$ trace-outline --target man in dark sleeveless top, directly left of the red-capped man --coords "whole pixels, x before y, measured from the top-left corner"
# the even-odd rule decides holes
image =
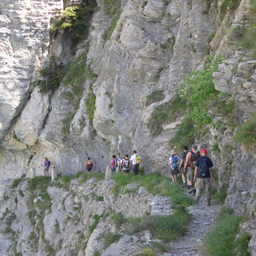
[[[198,151],[198,146],[192,145],[191,151],[186,155],[186,162],[184,165],[184,169],[186,171],[186,182],[187,188],[192,190],[189,192],[190,194],[193,193],[195,195],[195,190],[193,188],[193,180],[194,180],[194,168],[197,159],[200,157],[200,153]]]

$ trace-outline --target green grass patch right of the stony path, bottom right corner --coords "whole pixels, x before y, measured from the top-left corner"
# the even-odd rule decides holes
[[[236,256],[249,255],[248,235],[241,239],[236,238],[239,232],[239,225],[244,218],[235,216],[230,208],[222,208],[218,214],[214,227],[204,238],[204,251],[209,256]],[[238,242],[239,241],[239,242]],[[238,250],[244,254],[238,254]]]

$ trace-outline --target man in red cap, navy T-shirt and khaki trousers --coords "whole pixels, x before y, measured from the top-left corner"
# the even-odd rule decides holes
[[[196,182],[195,204],[201,198],[202,190],[205,189],[207,206],[210,206],[210,188],[214,183],[213,162],[207,157],[207,150],[201,150],[201,157],[198,158],[194,169],[194,182]]]

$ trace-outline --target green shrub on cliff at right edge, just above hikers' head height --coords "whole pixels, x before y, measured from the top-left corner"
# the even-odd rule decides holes
[[[256,145],[256,114],[234,134],[234,139],[244,146],[254,149]]]

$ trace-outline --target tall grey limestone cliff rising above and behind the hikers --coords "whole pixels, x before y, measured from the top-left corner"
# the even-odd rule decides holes
[[[83,170],[87,156],[96,170],[105,170],[112,154],[134,149],[146,172],[164,174],[169,140],[184,116],[156,123],[161,126],[156,135],[149,119],[178,93],[183,74],[202,70],[211,53],[222,55],[213,74],[215,89],[234,102],[231,119],[215,121],[232,126],[210,126],[195,141],[210,149],[219,186],[229,188],[226,205],[254,215],[255,142],[248,147],[234,140],[255,112],[256,62],[252,50],[238,43],[250,28],[252,3],[98,0],[88,33],[71,46],[69,35],[49,33],[70,2],[2,2],[2,180],[41,175],[44,156],[64,175]],[[58,88],[42,93],[42,70],[53,65],[65,74]],[[160,97],[150,101],[156,93]]]

